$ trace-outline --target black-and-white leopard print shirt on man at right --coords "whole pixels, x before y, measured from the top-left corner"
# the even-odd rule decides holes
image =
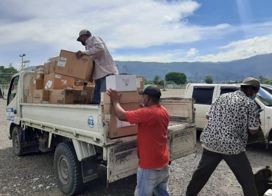
[[[219,153],[245,151],[248,128],[259,127],[257,105],[240,90],[216,98],[207,113],[210,119],[200,135],[200,141]]]

